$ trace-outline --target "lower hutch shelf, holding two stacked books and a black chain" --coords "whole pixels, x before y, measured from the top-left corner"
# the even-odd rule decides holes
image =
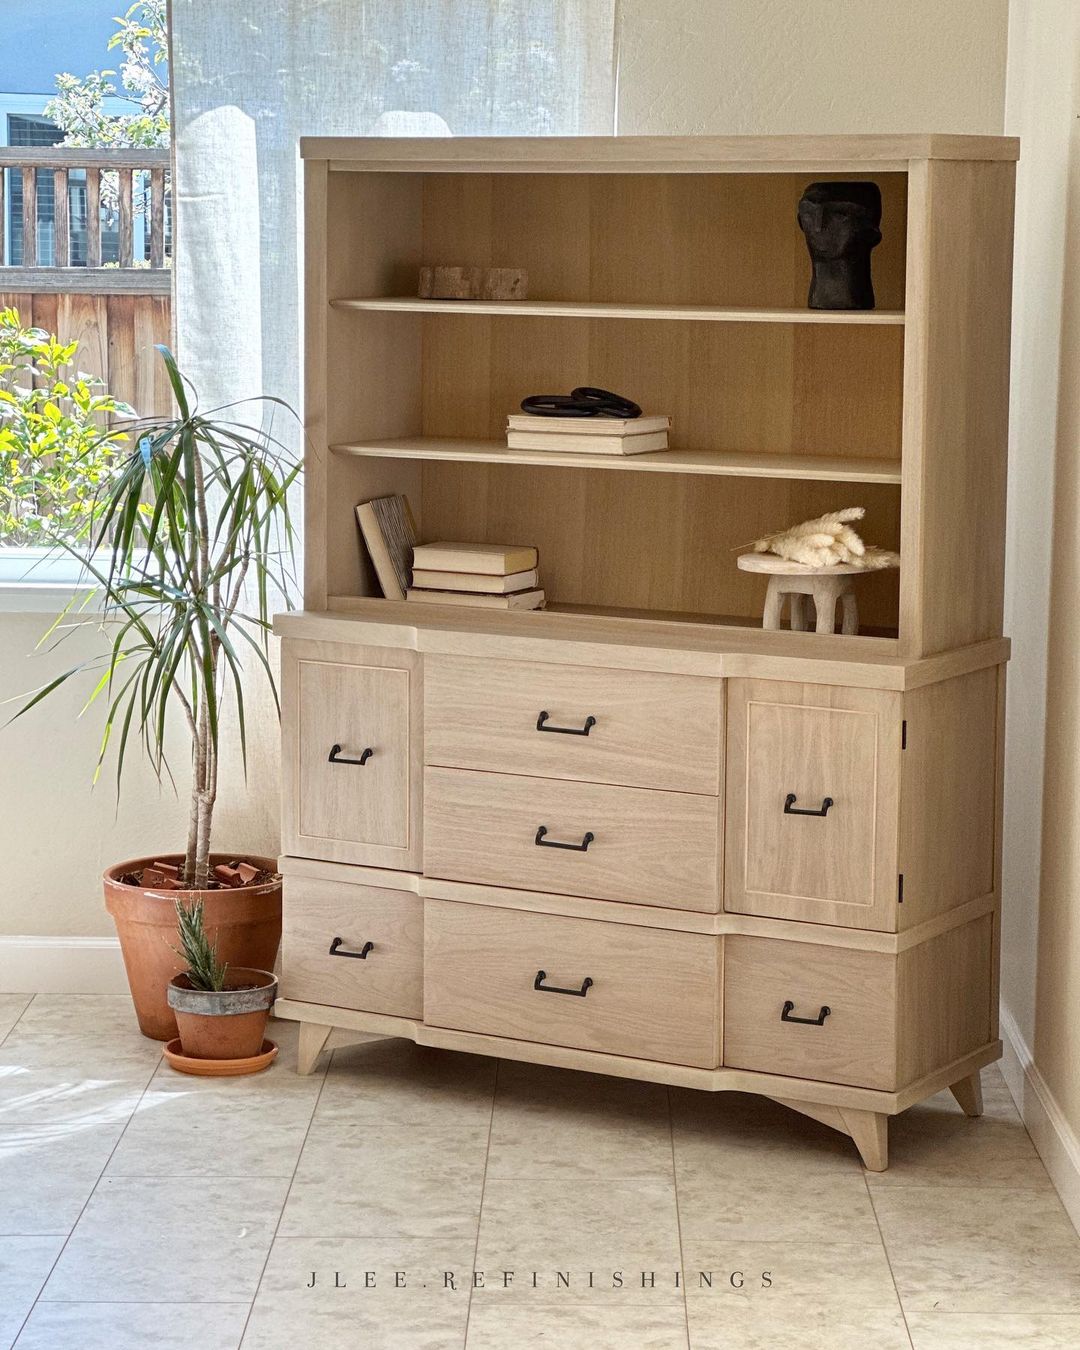
[[[497,440],[460,440],[441,436],[348,441],[331,448],[336,455],[371,459],[529,464],[541,468],[620,468],[647,474],[709,474],[728,478],[787,478],[833,483],[900,482],[899,460],[850,455],[792,455],[721,450],[660,450],[644,455],[586,455],[575,451],[509,450]]]

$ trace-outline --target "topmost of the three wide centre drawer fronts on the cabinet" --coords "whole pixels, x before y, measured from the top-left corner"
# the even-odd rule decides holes
[[[721,690],[691,675],[428,657],[425,763],[716,794]]]

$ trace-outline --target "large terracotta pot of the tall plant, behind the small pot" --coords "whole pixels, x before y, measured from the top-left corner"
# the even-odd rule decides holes
[[[211,864],[231,863],[236,853],[213,853]],[[240,855],[252,867],[277,871],[273,859]],[[177,1019],[166,998],[169,980],[184,969],[173,950],[177,937],[177,896],[202,900],[207,933],[217,944],[217,956],[227,965],[271,971],[281,942],[281,880],[262,886],[238,886],[219,891],[163,891],[126,886],[120,878],[136,876],[154,863],[182,863],[176,853],[153,853],[130,863],[117,863],[104,875],[105,909],[116,923],[127,981],[135,1000],[139,1030],[154,1041],[171,1041],[178,1034]]]

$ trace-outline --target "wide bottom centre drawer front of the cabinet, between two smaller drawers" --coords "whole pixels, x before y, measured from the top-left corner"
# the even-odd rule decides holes
[[[427,900],[425,1022],[716,1068],[717,944],[702,933]]]

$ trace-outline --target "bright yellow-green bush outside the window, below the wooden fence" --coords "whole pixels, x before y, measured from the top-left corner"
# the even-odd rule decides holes
[[[78,343],[0,310],[0,544],[80,539],[112,482],[134,409],[77,366]]]

